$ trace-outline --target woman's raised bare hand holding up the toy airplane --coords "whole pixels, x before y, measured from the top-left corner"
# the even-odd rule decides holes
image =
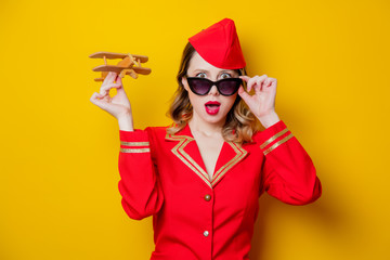
[[[109,90],[113,88],[117,89],[117,94],[110,98]],[[121,130],[132,130],[130,101],[125,92],[121,78],[116,73],[108,73],[102,83],[100,93],[94,92],[90,101],[117,118]]]

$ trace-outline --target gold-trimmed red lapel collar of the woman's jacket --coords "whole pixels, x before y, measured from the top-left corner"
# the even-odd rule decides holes
[[[240,145],[233,142],[224,142],[221,153],[217,159],[212,179],[210,180],[202,159],[199,148],[196,142],[194,142],[195,139],[188,125],[176,134],[167,133],[166,141],[178,142],[171,152],[193,172],[195,172],[210,188],[213,188],[223,179],[223,177],[248,154],[248,152]]]

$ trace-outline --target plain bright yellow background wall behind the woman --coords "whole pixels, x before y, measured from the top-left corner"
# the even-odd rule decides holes
[[[118,126],[90,103],[89,54],[150,56],[123,79],[136,128],[169,123],[190,36],[230,17],[248,73],[278,80],[276,110],[311,155],[323,196],[265,195],[253,260],[389,259],[389,11],[370,1],[0,3],[0,259],[148,259],[152,218],[120,206]]]

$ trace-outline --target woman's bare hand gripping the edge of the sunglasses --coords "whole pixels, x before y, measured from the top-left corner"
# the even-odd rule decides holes
[[[266,75],[255,76],[252,78],[239,76],[239,78],[247,82],[247,90],[245,91],[242,86],[238,89],[238,94],[260,120],[261,125],[264,128],[269,128],[280,121],[275,112],[276,79],[269,78]],[[249,92],[252,89],[255,94],[250,95]]]

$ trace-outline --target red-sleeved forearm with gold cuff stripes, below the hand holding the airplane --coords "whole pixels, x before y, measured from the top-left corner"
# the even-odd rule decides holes
[[[122,207],[131,219],[141,220],[159,211],[164,195],[146,130],[119,131],[118,169]]]

